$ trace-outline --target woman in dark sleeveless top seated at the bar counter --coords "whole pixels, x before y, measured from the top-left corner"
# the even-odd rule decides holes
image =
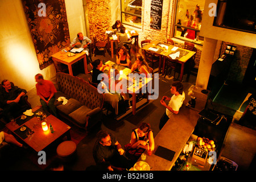
[[[126,156],[136,162],[145,150],[153,151],[155,148],[155,140],[150,124],[141,123],[137,129],[133,129],[131,140],[126,144]]]

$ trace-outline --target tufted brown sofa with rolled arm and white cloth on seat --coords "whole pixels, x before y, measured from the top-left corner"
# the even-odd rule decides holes
[[[79,77],[66,73],[56,73],[55,106],[60,117],[88,131],[101,121],[104,94]],[[67,104],[57,98],[67,98]]]

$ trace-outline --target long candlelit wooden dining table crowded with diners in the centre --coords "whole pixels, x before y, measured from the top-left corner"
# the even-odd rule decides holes
[[[106,65],[113,65],[115,64],[113,61],[108,61],[106,62]],[[106,69],[109,69],[108,67],[106,67]],[[117,67],[118,71],[123,71],[123,76],[122,78],[126,80],[126,82],[129,81],[129,73],[131,73],[131,69],[123,67],[122,65],[118,65]],[[144,84],[142,84],[142,81],[139,81],[139,86],[136,85],[135,80],[133,79],[133,85],[130,85],[129,87],[127,87],[127,93],[130,93],[132,95],[132,99],[133,99],[133,115],[136,114],[136,95],[138,93],[142,93],[142,90],[146,89],[147,90],[147,86],[148,84],[151,84],[152,82],[152,78],[145,78]],[[148,90],[147,90],[148,91]],[[150,92],[149,92],[150,93]],[[148,92],[147,92],[148,94]],[[147,102],[149,102],[148,97],[147,97]]]

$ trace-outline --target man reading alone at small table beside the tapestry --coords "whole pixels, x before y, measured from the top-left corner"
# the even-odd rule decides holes
[[[82,35],[82,32],[79,32],[77,34],[77,37],[73,39],[72,43],[69,45],[69,48],[84,48],[86,53],[86,61],[87,64],[90,64],[90,67],[93,68],[91,60],[88,59],[89,57],[89,44],[92,43],[92,40],[90,40],[88,37]]]

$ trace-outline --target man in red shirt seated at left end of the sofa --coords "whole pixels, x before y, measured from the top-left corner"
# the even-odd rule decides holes
[[[57,92],[53,82],[50,80],[44,80],[43,75],[38,73],[35,76],[36,93],[40,97],[40,102],[44,110],[50,112],[57,117],[56,107],[54,105],[55,97],[54,93]]]

